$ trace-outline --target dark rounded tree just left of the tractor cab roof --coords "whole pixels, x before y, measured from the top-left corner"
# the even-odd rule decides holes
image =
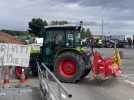
[[[43,21],[41,18],[33,18],[29,23],[29,32],[35,36],[41,37],[44,26],[47,26],[47,21]]]

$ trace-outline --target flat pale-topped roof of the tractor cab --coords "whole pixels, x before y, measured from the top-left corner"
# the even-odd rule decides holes
[[[50,25],[46,26],[46,30],[80,30],[81,26],[76,25]]]

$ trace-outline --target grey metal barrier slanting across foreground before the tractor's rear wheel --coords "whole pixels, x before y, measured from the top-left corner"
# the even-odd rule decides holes
[[[65,100],[72,97],[45,64],[42,63],[40,65],[37,62],[37,66],[41,97],[43,100]]]

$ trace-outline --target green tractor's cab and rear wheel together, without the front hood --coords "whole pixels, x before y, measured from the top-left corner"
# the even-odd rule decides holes
[[[43,32],[41,61],[56,77],[74,83],[91,70],[91,49],[82,47],[81,26],[47,26]]]

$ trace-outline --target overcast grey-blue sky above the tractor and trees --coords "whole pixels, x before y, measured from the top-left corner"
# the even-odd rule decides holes
[[[0,29],[28,30],[32,18],[84,22],[93,34],[134,34],[134,0],[0,0]]]

